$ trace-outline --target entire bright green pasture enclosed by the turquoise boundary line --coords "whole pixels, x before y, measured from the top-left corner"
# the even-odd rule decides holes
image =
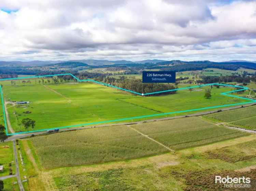
[[[6,107],[15,132],[86,125],[94,122],[246,102],[246,100],[220,95],[221,92],[230,91],[232,88],[214,87],[211,90],[212,98],[205,99],[204,90],[207,88],[210,87],[197,88],[193,91],[179,90],[171,95],[141,97],[92,83],[42,85],[38,81],[35,84],[35,80],[31,80],[30,84],[16,81],[15,85],[11,85],[11,81],[3,82]],[[30,103],[14,105],[12,101],[29,101]],[[192,112],[175,115],[190,113]],[[151,119],[175,115],[160,115],[151,117]],[[24,128],[22,120],[25,118],[35,120],[33,129]],[[150,118],[126,120],[126,122],[146,119]]]

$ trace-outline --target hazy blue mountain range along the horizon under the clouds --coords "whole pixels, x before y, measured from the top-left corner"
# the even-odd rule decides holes
[[[96,59],[84,59],[84,60],[58,60],[58,61],[53,61],[53,60],[48,60],[48,61],[40,61],[40,60],[34,60],[34,61],[29,61],[29,62],[22,62],[22,61],[0,61],[0,66],[45,66],[45,65],[52,65],[52,64],[57,64],[57,63],[62,63],[62,62],[80,62],[84,64],[88,64],[91,66],[102,66],[102,65],[115,65],[115,64],[132,64],[132,63],[137,63],[137,64],[145,64],[145,63],[161,63],[161,64],[168,64],[168,63],[202,63],[206,61],[193,61],[193,62],[185,62],[181,60],[158,60],[158,59],[147,59],[147,60],[141,60],[141,61],[136,61],[132,62],[129,60],[96,60]],[[208,61],[209,62],[209,61]],[[230,61],[225,61],[221,63],[256,63],[256,61],[246,61],[246,60],[230,60]]]

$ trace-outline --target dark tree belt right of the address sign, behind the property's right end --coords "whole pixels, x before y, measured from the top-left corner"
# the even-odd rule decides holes
[[[231,75],[231,76],[201,76],[202,80],[198,80],[198,83],[203,84],[210,84],[216,82],[237,82],[237,83],[250,83],[250,80],[254,78],[247,76],[246,74],[243,75]]]

